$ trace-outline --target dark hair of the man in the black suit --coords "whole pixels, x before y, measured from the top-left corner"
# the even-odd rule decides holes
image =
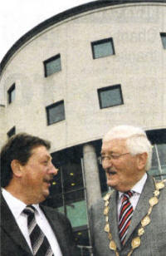
[[[26,165],[32,150],[39,146],[44,145],[47,150],[50,149],[51,144],[48,140],[27,133],[19,133],[13,135],[7,143],[2,146],[1,150],[1,186],[6,187],[10,180],[12,180],[12,160],[18,160],[21,165]]]

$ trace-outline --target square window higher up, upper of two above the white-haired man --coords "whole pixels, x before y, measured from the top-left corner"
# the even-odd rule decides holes
[[[111,37],[91,42],[91,47],[94,59],[115,54],[114,42]]]

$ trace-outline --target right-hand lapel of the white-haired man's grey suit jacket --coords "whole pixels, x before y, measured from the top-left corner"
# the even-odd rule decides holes
[[[137,228],[140,221],[148,213],[149,210],[149,199],[153,196],[154,192],[154,180],[148,175],[144,189],[140,195],[139,202],[134,210],[133,217],[131,219],[131,224],[129,225],[129,230],[127,232],[125,243],[129,239],[129,236],[133,234],[134,229]]]

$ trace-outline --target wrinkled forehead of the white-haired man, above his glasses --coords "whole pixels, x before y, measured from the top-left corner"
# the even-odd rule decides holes
[[[127,150],[126,139],[103,140],[101,153],[122,153]]]

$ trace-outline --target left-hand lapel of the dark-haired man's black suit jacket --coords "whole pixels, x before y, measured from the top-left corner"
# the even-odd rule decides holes
[[[15,244],[22,247],[28,254],[32,254],[31,249],[27,244],[26,239],[22,235],[21,230],[17,226],[17,223],[12,215],[12,212],[7,206],[5,199],[1,194],[1,226],[5,230],[7,235],[13,240]]]

